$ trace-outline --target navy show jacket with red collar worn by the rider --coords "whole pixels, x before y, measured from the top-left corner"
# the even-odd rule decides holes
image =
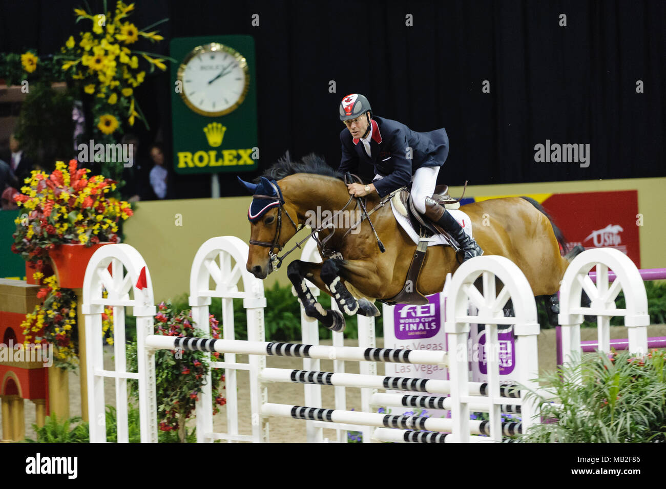
[[[347,128],[340,132],[342,159],[338,170],[356,172],[360,164],[374,165],[375,174],[384,178],[374,186],[380,197],[404,187],[412,180],[414,172],[422,166],[442,166],[449,154],[449,138],[444,128],[430,132],[415,132],[396,120],[374,116],[370,154],[363,142],[352,137]],[[412,148],[408,158],[408,149]]]

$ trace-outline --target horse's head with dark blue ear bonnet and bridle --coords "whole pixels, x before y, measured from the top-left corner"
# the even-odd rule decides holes
[[[238,181],[254,197],[248,209],[251,230],[246,269],[258,279],[265,279],[274,269],[272,259],[296,234],[296,208],[284,202],[282,189],[274,180],[261,177],[258,184],[251,184],[238,177]]]

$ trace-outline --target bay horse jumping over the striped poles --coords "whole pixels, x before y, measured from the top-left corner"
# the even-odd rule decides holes
[[[279,266],[281,259],[276,260],[277,253],[304,227],[308,216],[312,216],[310,213],[318,209],[334,213],[350,202],[343,176],[315,155],[304,157],[302,162],[292,162],[286,156],[266,170],[258,184],[240,182],[254,194],[248,210],[251,231],[246,268],[260,279]],[[379,202],[376,193],[370,194],[366,208],[370,210]],[[260,208],[260,212],[254,212],[253,206]],[[566,243],[537,202],[519,197],[497,198],[466,204],[460,209],[472,220],[474,238],[484,254],[513,261],[527,277],[535,296],[553,297],[557,293],[569,264],[561,255],[558,242],[565,251]],[[306,278],[334,297],[340,311],[347,315],[378,315],[374,300],[388,301],[405,285],[417,245],[396,222],[390,202],[370,219],[386,247],[384,253],[366,219],[356,234],[339,228],[318,232],[320,241],[328,238],[326,248],[337,251],[336,256],[326,258],[320,246],[322,263],[295,259],[288,265],[287,275],[306,315],[333,331],[344,329],[344,316],[324,309],[306,287]],[[428,247],[416,288],[423,295],[442,291],[447,273],[454,273],[459,265],[452,247]]]

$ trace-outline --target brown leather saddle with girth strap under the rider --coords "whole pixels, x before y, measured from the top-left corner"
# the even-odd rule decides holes
[[[462,196],[458,199],[454,199],[449,195],[448,185],[438,185],[435,187],[435,193],[432,195],[432,200],[441,204],[446,209],[456,210],[460,208],[460,200],[462,200],[465,195],[465,190],[467,188],[467,182],[463,188]],[[416,287],[418,283],[418,278],[421,275],[421,267],[423,262],[426,259],[426,253],[428,251],[428,241],[434,234],[443,234],[446,236],[447,240],[451,245],[458,251],[455,240],[440,226],[430,221],[426,216],[420,214],[415,208],[414,203],[410,195],[410,191],[406,188],[403,188],[398,194],[393,198],[393,203],[395,208],[403,216],[409,218],[412,226],[415,230],[419,232],[419,242],[414,251],[414,256],[412,257],[412,262],[407,271],[407,278],[405,280],[405,285],[402,287],[402,290],[391,297],[390,299],[383,301],[388,305],[395,304],[414,304],[414,305],[424,305],[428,303],[428,299],[422,293],[420,293]]]

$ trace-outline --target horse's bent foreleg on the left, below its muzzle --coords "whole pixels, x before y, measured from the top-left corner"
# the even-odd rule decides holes
[[[295,259],[287,267],[287,277],[289,277],[291,283],[294,285],[296,295],[298,295],[298,299],[300,299],[300,303],[302,303],[305,314],[308,317],[314,317],[314,319],[320,321],[331,331],[344,331],[344,316],[340,311],[324,309],[318,303],[317,298],[312,295],[305,281],[307,278],[314,285],[326,291],[326,284],[320,277],[321,269],[322,263],[312,263],[310,261]],[[328,293],[328,291],[326,292]]]

